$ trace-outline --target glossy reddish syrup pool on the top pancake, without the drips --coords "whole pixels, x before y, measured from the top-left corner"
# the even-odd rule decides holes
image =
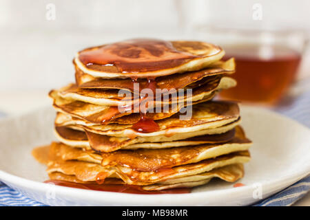
[[[193,58],[197,56],[176,50],[171,42],[157,39],[121,41],[79,54],[84,65],[115,66],[124,74],[171,69]]]

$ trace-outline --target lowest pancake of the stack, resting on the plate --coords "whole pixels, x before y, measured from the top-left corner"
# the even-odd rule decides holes
[[[180,177],[142,186],[143,190],[164,190],[169,188],[194,187],[207,184],[211,178],[218,177],[224,181],[234,182],[242,178],[244,169],[242,164],[231,164],[220,168],[215,168],[209,172],[192,175],[189,177]],[[96,184],[96,181],[81,181],[74,175],[65,175],[63,173],[54,172],[49,174],[50,179],[61,181],[71,181],[79,184]],[[121,179],[107,178],[103,184],[125,184]]]

